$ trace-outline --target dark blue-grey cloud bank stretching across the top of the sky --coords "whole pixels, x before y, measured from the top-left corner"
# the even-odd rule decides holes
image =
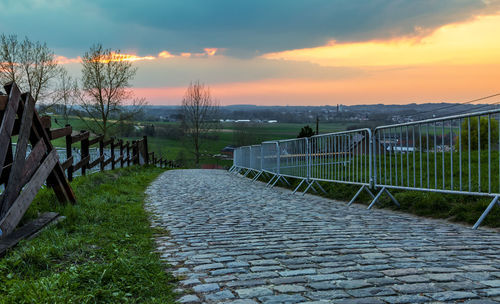
[[[55,3],[55,4],[54,4]],[[254,56],[418,35],[492,14],[500,0],[17,0],[0,4],[0,28],[81,50],[96,41],[155,53],[227,49]],[[43,5],[46,4],[46,5]]]

